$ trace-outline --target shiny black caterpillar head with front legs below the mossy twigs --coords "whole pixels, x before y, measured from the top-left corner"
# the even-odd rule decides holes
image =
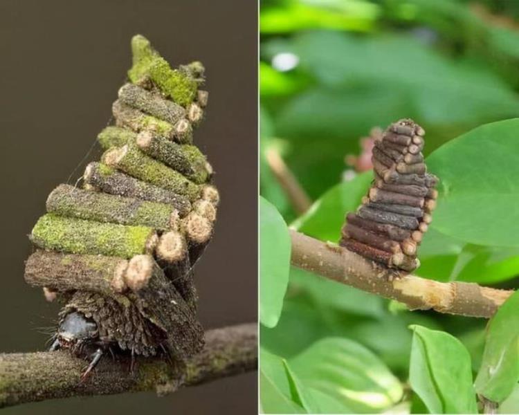
[[[84,351],[87,351],[90,362],[81,376],[84,379],[98,364],[107,348],[109,344],[99,338],[98,325],[82,313],[73,311],[60,322],[50,350],[69,349],[76,356],[82,356]]]

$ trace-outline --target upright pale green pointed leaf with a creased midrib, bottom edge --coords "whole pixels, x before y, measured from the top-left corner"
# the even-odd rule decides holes
[[[412,325],[409,381],[431,414],[477,414],[471,357],[462,342]]]

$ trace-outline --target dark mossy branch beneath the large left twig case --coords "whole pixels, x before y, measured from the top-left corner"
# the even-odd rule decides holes
[[[80,382],[84,360],[66,351],[0,354],[0,408],[70,396],[149,391],[166,394],[179,387],[252,371],[257,367],[257,324],[206,331],[206,346],[185,365],[163,358],[105,358],[93,375]]]

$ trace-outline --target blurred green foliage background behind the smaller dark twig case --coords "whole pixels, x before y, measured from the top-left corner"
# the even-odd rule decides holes
[[[371,169],[374,127],[412,118],[426,130],[428,156],[480,124],[518,117],[518,91],[516,1],[262,0],[260,192],[294,228],[337,242],[345,212],[358,206],[369,187],[369,173],[359,174]],[[303,202],[316,201],[309,210],[286,197],[276,178],[283,163],[302,187]],[[419,257],[422,277],[519,285],[516,248],[466,244],[432,229]],[[262,326],[261,344],[291,359],[322,338],[354,340],[404,385],[403,404],[376,406],[358,398],[356,410],[423,413],[405,386],[408,325],[457,336],[477,369],[485,323],[410,313],[293,268],[280,322],[274,329]],[[517,413],[517,398],[515,405],[502,410]]]

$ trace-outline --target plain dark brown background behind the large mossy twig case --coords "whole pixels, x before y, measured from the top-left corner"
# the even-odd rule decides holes
[[[44,349],[38,330],[53,326],[57,305],[24,283],[27,234],[53,187],[82,174],[84,163],[74,169],[109,120],[136,33],[172,64],[206,66],[209,105],[194,139],[222,202],[195,273],[200,319],[206,328],[257,320],[256,1],[0,0],[0,351]],[[256,411],[256,374],[246,374],[166,398],[74,398],[2,414]]]

